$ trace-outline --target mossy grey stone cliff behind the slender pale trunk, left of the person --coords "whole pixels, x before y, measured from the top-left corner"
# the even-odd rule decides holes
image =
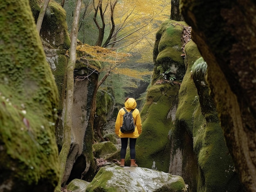
[[[38,1],[30,0],[30,6],[34,18],[37,18],[40,11]],[[70,47],[70,38],[67,31],[65,10],[55,1],[51,1],[48,7],[50,12],[45,14],[40,37],[59,92],[60,102],[56,121],[56,141],[60,151],[63,144],[63,114],[65,113],[65,73],[68,62],[66,53]],[[78,44],[80,43],[78,42]],[[82,54],[81,51],[77,50],[78,56]],[[91,62],[90,64],[97,66],[97,68],[100,67],[99,62]],[[93,129],[89,117],[98,75],[97,73],[92,73],[93,70],[83,62],[76,62],[74,70],[72,146],[67,159],[68,166],[66,166],[63,183],[68,181],[71,172],[73,177],[71,179],[80,179],[83,172],[85,177],[90,167],[94,167],[92,154]],[[90,75],[91,73],[92,75]]]

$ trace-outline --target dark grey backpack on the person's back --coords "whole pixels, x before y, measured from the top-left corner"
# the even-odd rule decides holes
[[[123,125],[121,126],[121,132],[123,133],[131,133],[135,130],[134,120],[132,117],[132,112],[134,109],[132,109],[130,112],[126,110],[126,108],[123,108],[125,111],[124,118],[123,118]]]

